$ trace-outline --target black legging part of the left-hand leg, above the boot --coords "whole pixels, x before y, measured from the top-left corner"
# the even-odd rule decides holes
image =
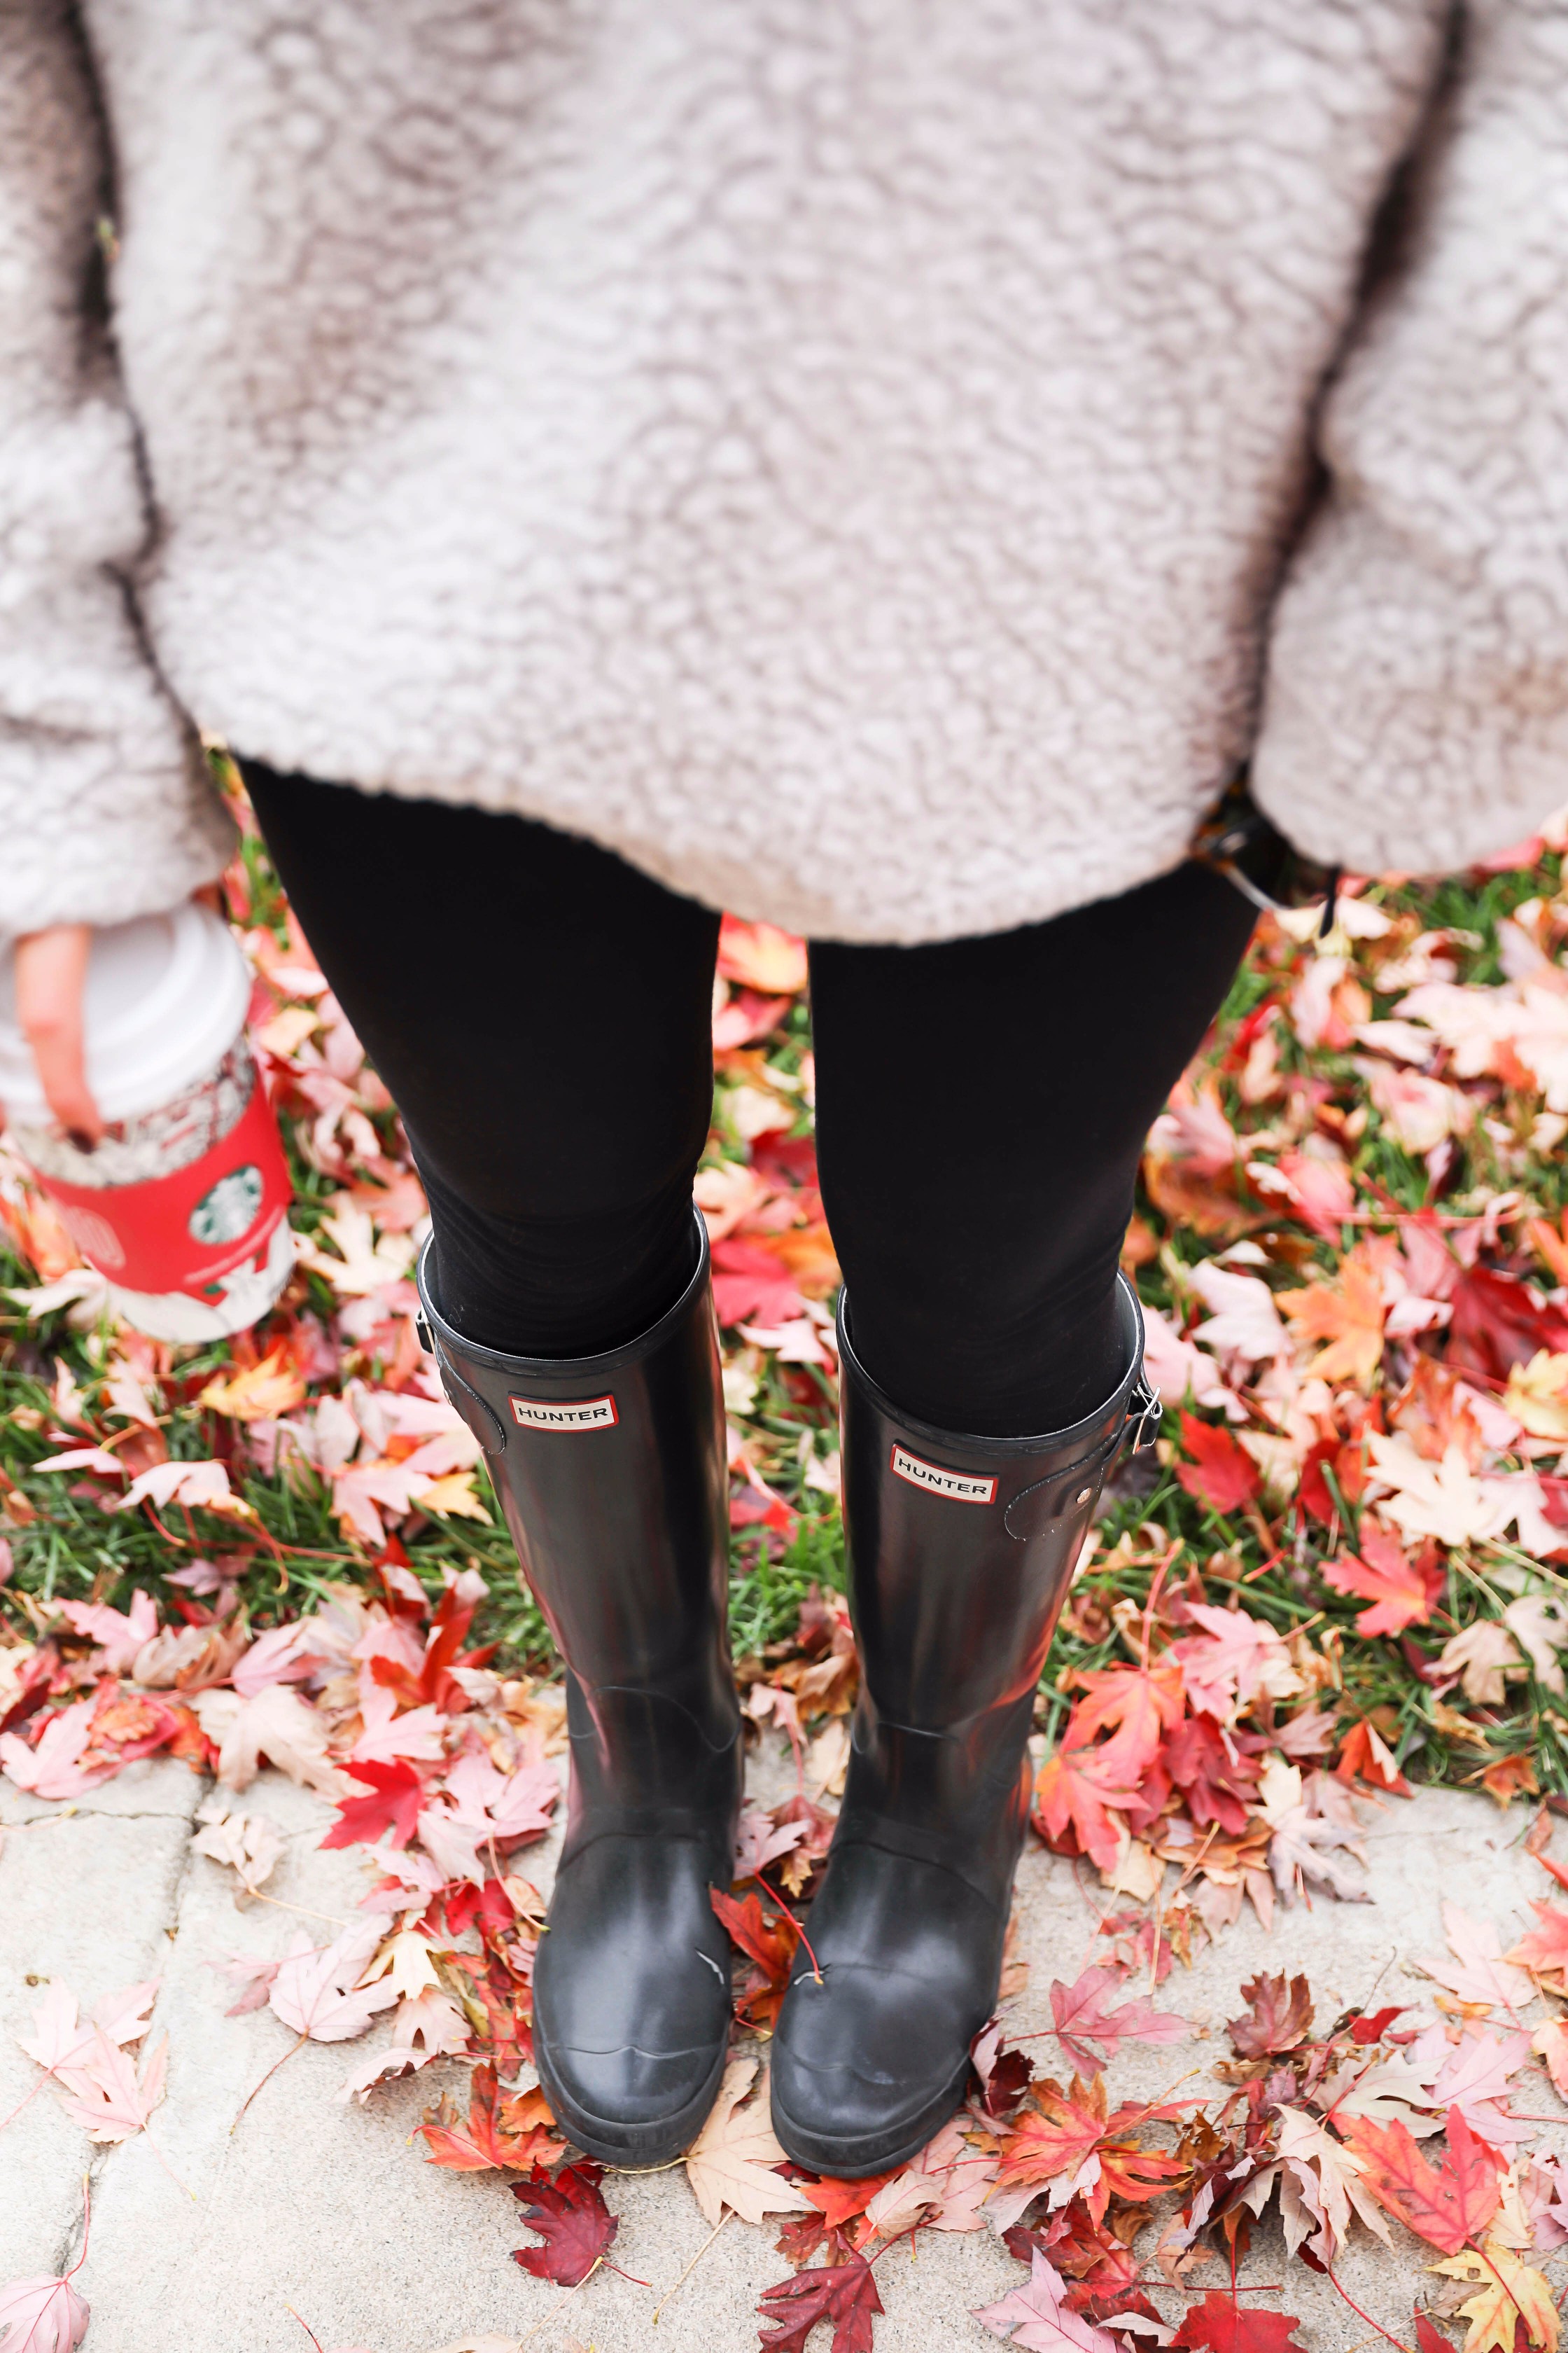
[[[527,1355],[644,1332],[693,1264],[719,918],[522,816],[244,776],[404,1115],[444,1313]]]

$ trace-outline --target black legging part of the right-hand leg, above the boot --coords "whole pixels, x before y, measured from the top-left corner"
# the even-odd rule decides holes
[[[823,1207],[856,1353],[905,1412],[1027,1435],[1114,1388],[1143,1139],[1253,922],[1187,864],[994,939],[813,946]]]

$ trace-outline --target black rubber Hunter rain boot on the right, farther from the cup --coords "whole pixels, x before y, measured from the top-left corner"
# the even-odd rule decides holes
[[[900,1414],[839,1306],[844,1527],[860,1640],[844,1807],[773,2038],[773,2129],[797,2165],[903,2165],[964,2097],[997,2007],[1030,1819],[1027,1737],[1056,1617],[1128,1424],[1150,1442],[1143,1315],[1126,1374],[1046,1438]],[[1147,1435],[1145,1435],[1147,1433]]]

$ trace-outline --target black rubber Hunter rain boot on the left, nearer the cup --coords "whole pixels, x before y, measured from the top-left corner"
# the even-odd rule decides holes
[[[741,1711],[724,1633],[729,1478],[719,1339],[698,1268],[604,1355],[477,1348],[430,1297],[447,1395],[480,1438],[567,1661],[571,1791],[534,1969],[534,2057],[564,2132],[604,2165],[689,2146],[724,2073]]]

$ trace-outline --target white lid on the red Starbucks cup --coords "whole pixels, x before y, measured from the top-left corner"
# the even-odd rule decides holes
[[[92,934],[87,1085],[106,1120],[136,1120],[193,1087],[240,1035],[249,972],[212,908],[186,901]],[[0,944],[0,1104],[28,1127],[54,1122],[33,1049],[16,1026],[12,941]]]

